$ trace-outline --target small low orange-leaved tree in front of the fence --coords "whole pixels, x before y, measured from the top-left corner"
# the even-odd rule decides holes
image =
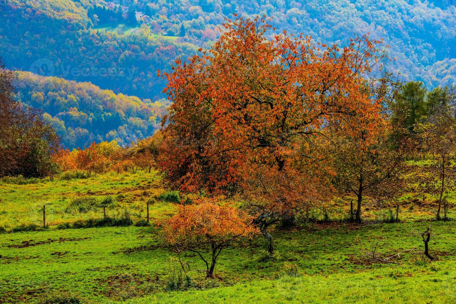
[[[252,226],[252,218],[236,207],[221,204],[220,198],[196,200],[194,205],[184,205],[176,215],[161,223],[163,238],[166,243],[176,247],[182,269],[201,271],[207,278],[212,278],[218,255],[223,248],[231,246],[242,238],[251,238],[258,233]],[[202,253],[206,250],[209,258]],[[182,262],[181,253],[197,253],[206,264],[206,269],[191,269],[187,262]]]

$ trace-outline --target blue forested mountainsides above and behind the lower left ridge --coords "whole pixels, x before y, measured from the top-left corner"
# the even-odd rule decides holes
[[[280,30],[326,43],[346,44],[371,32],[391,46],[394,61],[387,66],[402,80],[422,80],[429,88],[455,82],[456,8],[446,0],[9,0],[0,9],[7,66],[37,72],[52,65],[41,74],[152,100],[161,98],[156,69],[194,54],[193,45],[210,46],[232,13],[268,15]],[[136,21],[134,12],[150,21]],[[98,30],[108,25],[115,30]]]

